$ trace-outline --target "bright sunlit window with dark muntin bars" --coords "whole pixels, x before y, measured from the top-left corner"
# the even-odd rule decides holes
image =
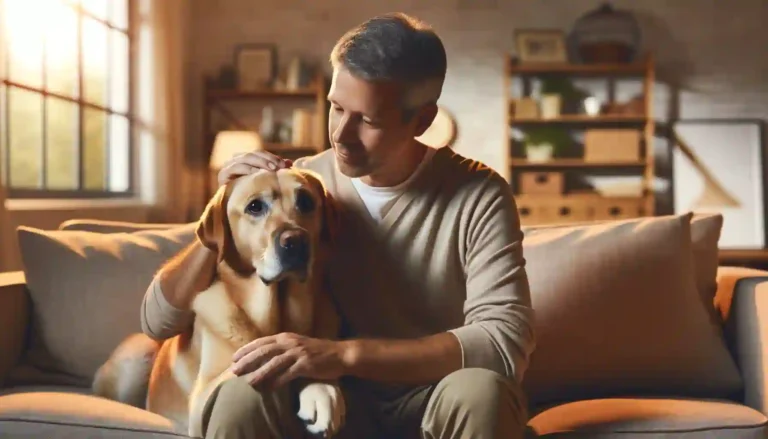
[[[11,198],[132,194],[131,0],[0,0]]]

